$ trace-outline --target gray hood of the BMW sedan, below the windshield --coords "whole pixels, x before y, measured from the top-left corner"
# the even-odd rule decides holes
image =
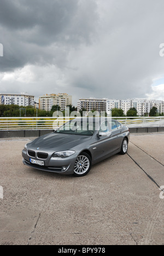
[[[39,150],[69,150],[90,140],[92,136],[80,136],[60,133],[49,133],[28,143],[27,147]]]

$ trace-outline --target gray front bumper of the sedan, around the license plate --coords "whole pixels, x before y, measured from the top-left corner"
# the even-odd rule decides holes
[[[77,160],[77,155],[73,154],[71,156],[68,156],[66,158],[53,158],[51,156],[48,157],[48,159],[43,159],[44,166],[32,164],[30,162],[30,159],[36,159],[32,158],[27,154],[26,150],[22,150],[22,161],[24,165],[42,170],[47,172],[55,172],[60,174],[73,174],[74,173],[74,165],[75,161]]]

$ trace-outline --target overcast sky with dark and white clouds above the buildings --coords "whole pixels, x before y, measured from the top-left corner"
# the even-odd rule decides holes
[[[163,10],[163,0],[1,0],[0,93],[164,100]]]

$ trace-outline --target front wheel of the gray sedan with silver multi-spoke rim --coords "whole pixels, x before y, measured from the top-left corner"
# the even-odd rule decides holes
[[[85,176],[91,170],[91,166],[91,157],[87,153],[82,152],[78,155],[77,160],[75,161],[74,176]]]

